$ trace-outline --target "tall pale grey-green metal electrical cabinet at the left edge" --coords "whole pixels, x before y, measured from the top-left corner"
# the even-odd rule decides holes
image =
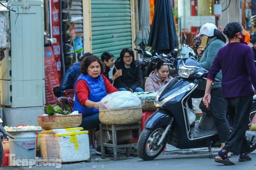
[[[0,103],[13,108],[43,106],[43,1],[11,1],[8,7],[16,12],[7,12],[9,18],[5,18],[10,25],[10,48],[0,65]]]

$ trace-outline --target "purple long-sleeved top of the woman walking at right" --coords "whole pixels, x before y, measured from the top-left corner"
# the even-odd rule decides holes
[[[224,98],[252,95],[256,87],[256,68],[252,49],[243,43],[229,43],[222,47],[212,63],[208,78],[222,70],[222,95]]]

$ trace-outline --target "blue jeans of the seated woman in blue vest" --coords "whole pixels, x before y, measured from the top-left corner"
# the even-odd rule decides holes
[[[100,129],[99,113],[83,117],[80,127],[84,129],[97,128]]]

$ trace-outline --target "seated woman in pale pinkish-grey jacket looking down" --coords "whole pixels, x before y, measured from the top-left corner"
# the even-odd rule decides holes
[[[145,83],[145,91],[156,92],[159,91],[173,78],[169,75],[168,65],[164,65],[164,61],[160,60],[156,63],[156,69],[150,73]]]

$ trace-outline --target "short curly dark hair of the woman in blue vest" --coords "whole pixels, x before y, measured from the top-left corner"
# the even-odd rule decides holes
[[[100,69],[101,69],[100,73],[104,74],[105,64],[96,55],[90,55],[90,56],[84,57],[84,59],[80,63],[81,73],[87,74],[87,69],[88,69],[89,65],[95,61],[97,61],[100,64]]]

